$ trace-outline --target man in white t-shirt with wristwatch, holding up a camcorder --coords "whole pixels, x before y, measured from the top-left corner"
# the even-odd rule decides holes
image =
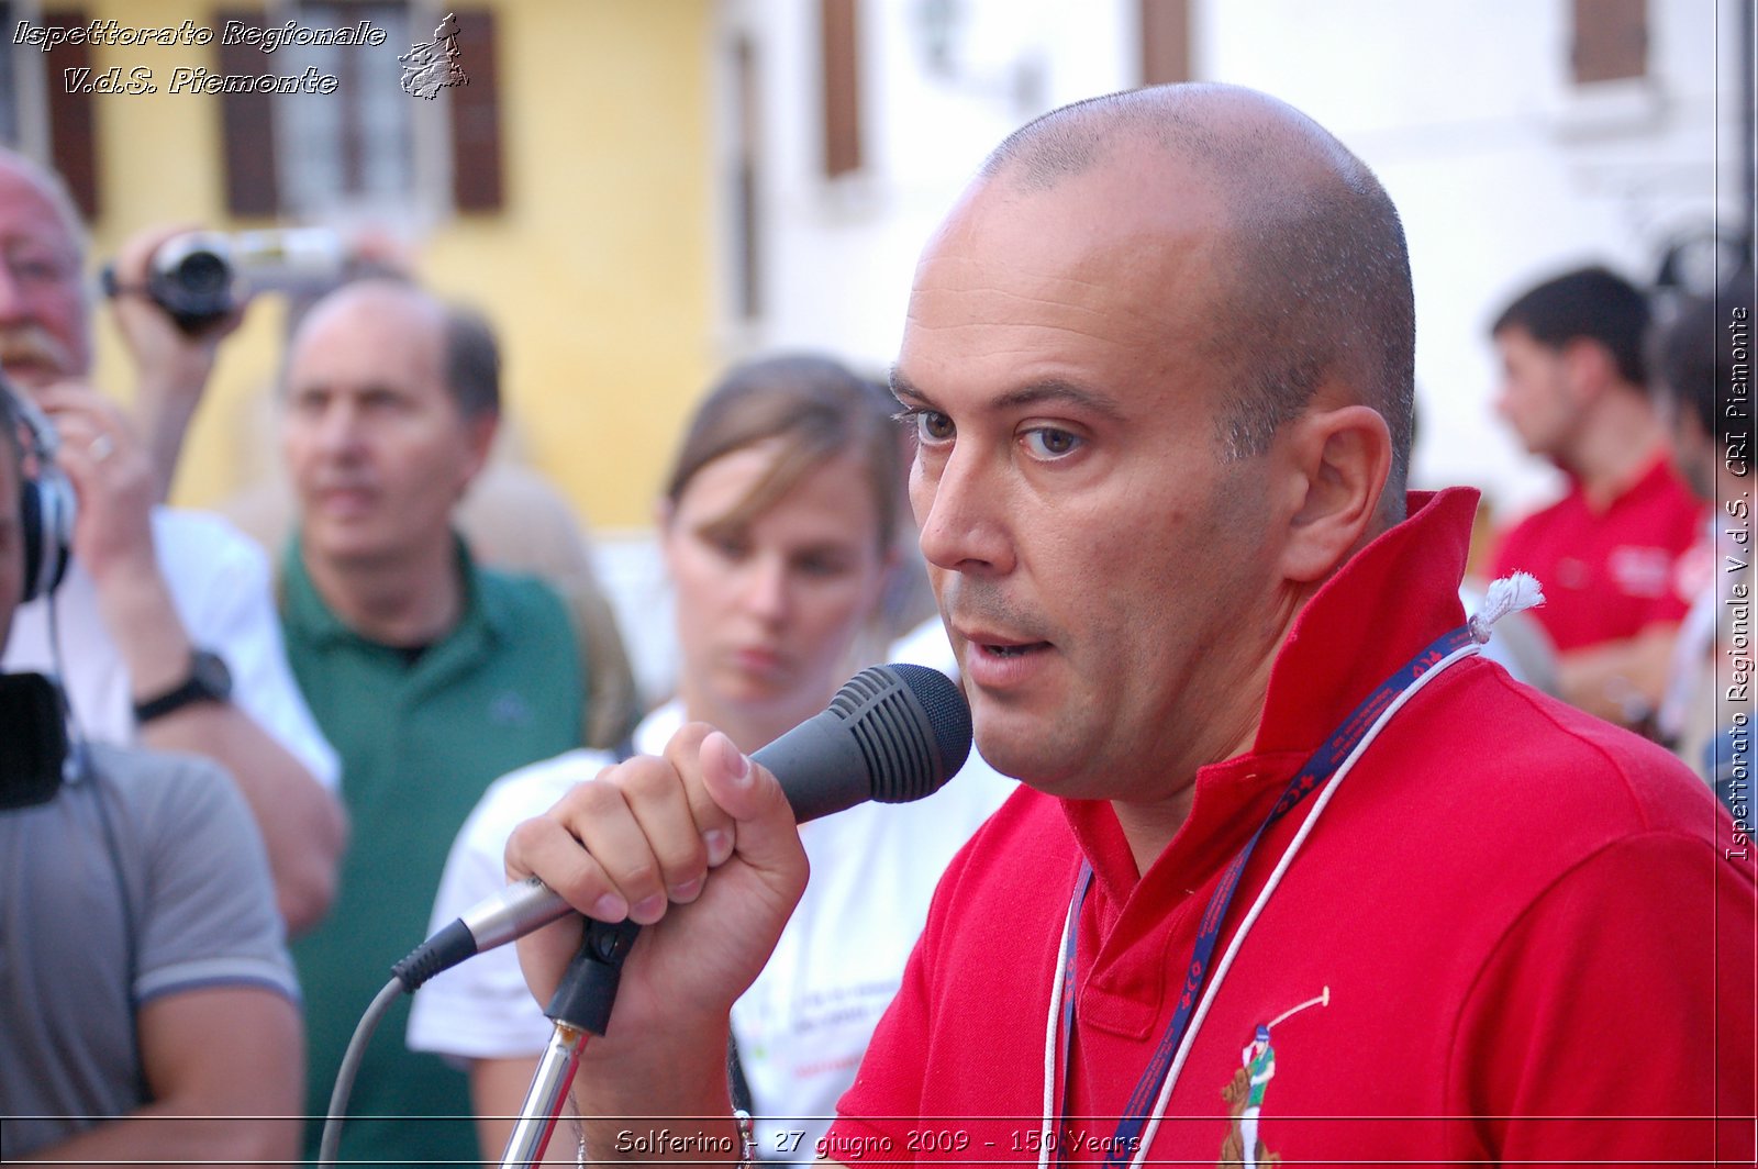
[[[171,232],[116,265],[116,323],[141,373],[137,404],[199,394],[227,323],[190,336],[137,295]],[[28,461],[77,497],[44,559],[70,552],[54,601],[19,608],[4,668],[60,675],[76,724],[102,742],[186,751],[223,765],[262,830],[290,930],[334,891],[345,819],[336,758],[281,650],[267,559],[223,522],[155,506],[163,485],[121,410],[88,383],[90,301],[79,218],[53,174],[0,149],[0,366],[35,401]]]

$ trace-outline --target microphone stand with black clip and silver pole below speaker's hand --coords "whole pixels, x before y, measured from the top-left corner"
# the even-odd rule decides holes
[[[561,1118],[573,1072],[580,1065],[580,1049],[587,1034],[603,1035],[610,1025],[610,1007],[617,1002],[617,983],[622,977],[622,960],[635,944],[640,926],[633,921],[605,925],[585,919],[580,949],[556,986],[556,995],[543,1011],[556,1023],[531,1088],[519,1106],[519,1123],[506,1139],[501,1169],[534,1169],[543,1160],[550,1134]]]

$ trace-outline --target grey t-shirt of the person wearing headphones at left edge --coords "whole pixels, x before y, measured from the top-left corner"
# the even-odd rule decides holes
[[[0,812],[5,1158],[146,1102],[141,1004],[239,984],[299,997],[232,781],[195,756],[95,745],[88,759],[49,803]]]

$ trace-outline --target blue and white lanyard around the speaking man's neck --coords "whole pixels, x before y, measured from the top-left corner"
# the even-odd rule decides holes
[[[1522,606],[1524,608],[1524,606]],[[1494,619],[1491,619],[1494,621]],[[1208,907],[1202,911],[1202,921],[1197,930],[1197,940],[1190,955],[1190,963],[1185,969],[1185,983],[1178,995],[1178,1009],[1173,1013],[1173,1020],[1160,1037],[1153,1056],[1148,1060],[1148,1067],[1143,1071],[1141,1079],[1136,1083],[1134,1092],[1129,1093],[1129,1100],[1122,1109],[1122,1120],[1118,1122],[1116,1134],[1111,1143],[1106,1144],[1106,1169],[1118,1169],[1125,1162],[1134,1162],[1139,1165],[1146,1155],[1148,1146],[1153,1143],[1153,1136],[1160,1127],[1160,1118],[1166,1115],[1166,1102],[1173,1095],[1173,1086],[1178,1081],[1178,1071],[1190,1051],[1190,1044],[1195,1039],[1195,1030],[1202,1023],[1202,1016],[1208,1014],[1208,1006],[1215,997],[1215,990],[1220,986],[1220,979],[1225,976],[1227,967],[1232,965],[1232,956],[1238,953],[1239,944],[1245,940],[1246,930],[1257,919],[1264,904],[1269,900],[1271,889],[1280,882],[1282,874],[1287,870],[1294,854],[1299,851],[1301,844],[1306,840],[1306,833],[1311,831],[1313,823],[1317,823],[1318,814],[1329,802],[1331,793],[1336,789],[1336,781],[1341,781],[1345,773],[1361,758],[1361,752],[1375,740],[1380,730],[1398,714],[1410,698],[1415,696],[1419,689],[1427,686],[1442,670],[1454,664],[1461,657],[1468,657],[1480,649],[1480,643],[1487,640],[1487,624],[1473,619],[1470,624],[1459,626],[1457,629],[1436,638],[1422,652],[1403,664],[1392,677],[1385,679],[1368,694],[1366,700],[1347,719],[1343,724],[1331,731],[1331,737],[1306,759],[1289,786],[1283,789],[1282,798],[1259,824],[1252,839],[1246,840],[1239,854],[1232,858],[1232,863],[1222,872],[1220,882],[1210,895]],[[1234,932],[1232,942],[1229,944],[1225,955],[1218,967],[1211,970],[1210,962],[1215,956],[1215,944],[1220,940],[1220,926],[1227,918],[1227,911],[1232,905],[1232,897],[1239,889],[1239,877],[1245,874],[1246,863],[1252,860],[1252,853],[1257,849],[1257,842],[1262,835],[1280,821],[1283,816],[1292,812],[1306,796],[1320,793],[1318,802],[1313,805],[1311,816],[1301,824],[1294,840],[1283,851],[1276,870],[1269,875],[1264,884],[1262,893],[1259,893],[1257,904],[1246,914],[1245,921]],[[1050,1160],[1055,1158],[1058,1165],[1065,1162],[1067,1141],[1060,1132],[1060,1118],[1067,1104],[1067,1079],[1069,1079],[1069,1049],[1074,1041],[1074,970],[1076,970],[1076,951],[1079,946],[1079,918],[1081,905],[1086,900],[1086,891],[1092,888],[1092,865],[1081,867],[1081,875],[1074,888],[1074,897],[1069,902],[1069,916],[1062,926],[1062,946],[1057,956],[1057,974],[1051,983],[1050,995],[1050,1018],[1044,1027],[1044,1122],[1042,1122],[1042,1146],[1039,1151],[1037,1164],[1048,1169]],[[1213,977],[1210,974],[1213,972]],[[1199,1000],[1201,995],[1201,1000]]]

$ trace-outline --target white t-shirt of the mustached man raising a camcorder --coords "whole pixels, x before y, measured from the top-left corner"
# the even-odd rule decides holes
[[[153,510],[153,547],[190,642],[225,659],[232,701],[334,789],[341,765],[318,731],[281,645],[269,557],[218,515]],[[60,680],[79,730],[97,742],[135,742],[128,666],[98,608],[97,582],[79,561],[53,598],[19,606],[4,668],[56,673],[51,605],[60,635]]]

